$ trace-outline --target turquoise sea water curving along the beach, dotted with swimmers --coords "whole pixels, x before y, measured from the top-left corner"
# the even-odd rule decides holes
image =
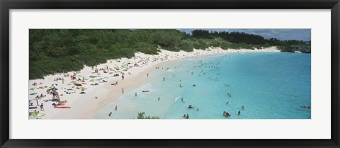
[[[109,103],[94,118],[130,119],[145,112],[162,119],[183,119],[184,114],[191,119],[310,119],[311,109],[300,108],[311,106],[310,58],[246,52],[169,62],[145,76],[147,84]]]

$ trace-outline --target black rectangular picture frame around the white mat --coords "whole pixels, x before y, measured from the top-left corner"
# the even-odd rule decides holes
[[[1,147],[339,147],[339,0],[1,0]],[[10,9],[331,9],[329,140],[15,140],[9,139]],[[312,130],[312,129],[311,129]]]

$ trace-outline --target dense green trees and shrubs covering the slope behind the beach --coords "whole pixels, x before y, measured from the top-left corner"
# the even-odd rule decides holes
[[[84,65],[95,66],[108,59],[133,57],[135,52],[157,55],[159,47],[191,52],[193,48],[254,50],[275,45],[310,52],[310,42],[267,40],[259,35],[208,30],[193,30],[188,35],[175,29],[30,29],[29,40],[29,79],[77,71]]]

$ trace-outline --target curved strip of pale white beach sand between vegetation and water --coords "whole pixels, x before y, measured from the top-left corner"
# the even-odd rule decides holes
[[[85,67],[84,69],[81,69],[80,72],[77,72],[77,79],[79,79],[80,76],[84,76],[86,84],[82,84],[83,86],[80,87],[86,88],[84,91],[85,94],[80,94],[81,90],[77,89],[77,86],[72,84],[71,78],[69,76],[64,76],[64,74],[54,74],[45,76],[45,79],[30,80],[29,88],[35,89],[30,90],[29,93],[38,93],[39,95],[42,93],[42,95],[46,95],[45,97],[38,99],[38,103],[43,103],[45,110],[40,111],[40,107],[36,109],[37,111],[40,111],[40,113],[45,114],[42,116],[43,119],[86,119],[91,118],[94,113],[96,113],[96,111],[122,96],[122,88],[124,89],[124,93],[128,93],[134,89],[137,89],[139,86],[142,86],[144,84],[142,78],[146,77],[148,72],[154,70],[155,67],[157,67],[157,64],[161,64],[162,62],[227,52],[280,52],[280,50],[277,50],[276,47],[268,47],[262,50],[222,50],[219,47],[210,47],[206,50],[193,50],[193,52],[171,52],[167,50],[160,51],[161,52],[159,52],[159,55],[145,55],[143,53],[136,53],[135,57],[130,59],[123,58],[108,60],[108,62],[105,64],[99,64],[94,67],[98,69],[106,69],[106,67],[109,69],[114,69],[115,67],[119,67],[119,70],[110,70],[108,73],[104,73],[101,70],[98,72],[98,74],[93,73],[94,69],[91,67]],[[135,67],[134,64],[137,64],[138,66]],[[68,72],[67,74],[72,75],[74,73],[75,72]],[[121,77],[123,73],[125,76],[124,80],[122,80]],[[119,76],[113,77],[113,74],[119,74]],[[98,77],[90,78],[89,76]],[[63,78],[64,84],[61,80],[54,81],[54,79],[57,78]],[[101,78],[108,82],[90,81],[91,79],[97,80]],[[111,85],[116,81],[118,81],[118,85]],[[38,84],[38,86],[33,86],[33,83],[35,82]],[[42,84],[40,84],[40,82]],[[98,85],[90,85],[94,83],[97,83]],[[56,88],[58,89],[57,91],[60,95],[60,99],[62,101],[67,100],[65,106],[69,106],[71,108],[54,108],[52,106],[53,102],[48,101],[52,99],[52,95],[47,94],[46,90],[50,88],[52,84],[57,84]],[[45,88],[45,86],[47,86],[47,88]],[[37,89],[39,87],[44,88]],[[73,89],[74,91],[67,91],[67,89]],[[72,93],[67,94],[66,92]],[[36,106],[35,96],[37,96],[37,94],[29,95],[29,100],[33,103],[33,106]],[[31,112],[34,110],[35,109],[30,109],[29,111]]]

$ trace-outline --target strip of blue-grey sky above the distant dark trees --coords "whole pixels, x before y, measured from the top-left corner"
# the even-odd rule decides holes
[[[195,29],[179,29],[191,33]],[[261,35],[263,38],[276,38],[278,40],[304,40],[310,41],[310,29],[204,29],[212,31],[242,32],[254,35]]]

